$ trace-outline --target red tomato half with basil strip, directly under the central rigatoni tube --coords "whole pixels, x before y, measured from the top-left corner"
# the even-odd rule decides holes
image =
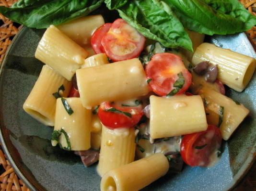
[[[98,110],[98,116],[106,127],[134,127],[142,117],[142,105],[119,106],[115,103],[103,102]]]

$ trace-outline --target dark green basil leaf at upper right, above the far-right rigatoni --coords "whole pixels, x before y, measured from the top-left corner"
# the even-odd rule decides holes
[[[225,14],[210,7],[205,3],[208,1],[164,0],[172,8],[185,28],[199,33],[209,35],[233,34],[246,31],[256,24],[256,18],[249,19],[250,23],[245,24],[241,19],[234,17],[231,12],[226,12]],[[233,2],[234,0],[232,0]]]

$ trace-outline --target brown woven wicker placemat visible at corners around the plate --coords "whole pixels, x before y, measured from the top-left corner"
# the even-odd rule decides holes
[[[0,6],[10,7],[18,0],[0,0]],[[256,0],[239,0],[248,11],[256,16]],[[0,14],[0,64],[4,58],[13,36],[22,25],[15,23]],[[246,32],[249,40],[256,47],[256,26]],[[0,147],[0,191],[30,191],[15,174],[8,159]],[[256,191],[256,165],[252,167],[245,179],[235,191]]]

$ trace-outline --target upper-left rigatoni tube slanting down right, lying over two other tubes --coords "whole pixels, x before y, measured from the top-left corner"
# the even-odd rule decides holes
[[[81,46],[53,25],[47,28],[35,51],[35,58],[69,81],[87,56],[88,53]]]

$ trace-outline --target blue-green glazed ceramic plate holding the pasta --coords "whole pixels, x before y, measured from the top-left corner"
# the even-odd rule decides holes
[[[0,139],[14,170],[32,191],[99,191],[95,165],[84,168],[72,152],[51,147],[52,127],[27,115],[23,103],[40,73],[42,63],[34,53],[44,30],[23,27],[12,41],[0,69]],[[212,42],[256,57],[243,33],[215,36]],[[240,48],[239,48],[240,47]],[[256,76],[243,93],[227,89],[227,95],[250,109],[250,115],[224,143],[219,163],[210,168],[186,166],[145,191],[227,191],[243,177],[255,159]]]

